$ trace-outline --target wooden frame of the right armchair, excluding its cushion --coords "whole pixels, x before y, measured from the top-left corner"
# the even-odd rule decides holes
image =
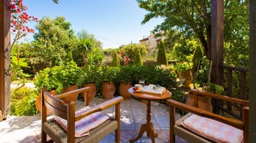
[[[183,104],[183,103],[180,103],[180,102],[172,100],[172,99],[168,99],[166,101],[166,103],[170,105],[170,142],[175,143],[175,134],[189,142],[197,142],[197,143],[215,142],[213,140],[209,140],[209,139],[203,137],[201,134],[196,134],[195,132],[192,132],[191,130],[184,128],[184,126],[181,125],[181,122],[183,122],[191,114],[196,114],[197,116],[207,117],[207,118],[213,119],[215,121],[228,124],[234,128],[239,128],[240,130],[243,131],[243,142],[244,143],[248,142],[248,110],[249,110],[248,101],[241,100],[238,98],[230,98],[227,96],[214,94],[214,93],[210,93],[210,92],[200,92],[197,90],[191,90],[191,93],[194,96],[193,97],[193,99],[194,99],[193,106],[188,105],[188,104]],[[216,114],[206,111],[206,110],[198,109],[198,96],[217,98],[220,100],[225,100],[228,102],[233,102],[236,104],[244,105],[243,121],[231,119],[231,118],[228,118],[225,116],[216,115]],[[178,119],[178,121],[175,122],[175,108],[178,108],[181,110],[186,110],[190,113],[181,117],[180,119]]]

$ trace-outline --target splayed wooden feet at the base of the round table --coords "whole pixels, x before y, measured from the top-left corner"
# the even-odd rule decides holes
[[[154,137],[158,137],[157,133],[154,133],[153,131],[153,123],[149,122],[149,123],[144,123],[140,126],[140,132],[138,134],[137,137],[135,137],[134,139],[129,140],[131,143],[133,143],[136,140],[139,140],[140,137],[144,134],[144,132],[147,132],[147,137],[150,137],[152,140],[152,143],[154,143]]]

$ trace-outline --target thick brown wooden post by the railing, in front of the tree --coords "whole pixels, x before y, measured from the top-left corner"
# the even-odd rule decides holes
[[[223,83],[223,39],[224,39],[224,0],[212,0],[211,18],[211,82]]]

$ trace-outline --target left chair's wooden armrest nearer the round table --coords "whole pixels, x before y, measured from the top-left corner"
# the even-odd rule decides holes
[[[81,120],[85,116],[89,116],[92,113],[95,113],[97,111],[106,110],[113,105],[120,104],[122,102],[122,100],[123,100],[122,97],[116,97],[116,98],[112,98],[108,101],[105,101],[102,104],[97,104],[96,106],[92,107],[90,110],[87,110],[84,114],[82,114],[80,116],[76,116],[75,121],[77,122],[78,120]]]

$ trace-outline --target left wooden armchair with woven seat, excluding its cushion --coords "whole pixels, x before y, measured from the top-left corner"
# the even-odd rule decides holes
[[[75,116],[75,102],[72,101],[72,98],[78,97],[78,93],[86,92],[89,88],[84,87],[81,89],[73,90],[71,92],[65,92],[57,96],[51,96],[48,92],[42,90],[42,111],[41,111],[41,142],[47,142],[47,135],[54,142],[98,142],[102,140],[105,136],[110,134],[113,131],[116,131],[116,141],[120,141],[120,103],[122,102],[122,97],[117,97],[98,104],[90,110],[86,110],[82,115]],[[85,93],[84,98],[88,98]],[[87,102],[88,103],[88,102]],[[92,113],[97,111],[106,110],[111,106],[116,105],[116,118],[108,119],[103,122],[96,128],[92,128],[89,131],[88,136],[84,137],[75,137],[75,122],[78,122],[80,119],[85,116],[89,116]],[[61,128],[59,123],[55,121],[54,118],[47,120],[47,109],[55,116],[59,116],[67,121],[67,130]]]

